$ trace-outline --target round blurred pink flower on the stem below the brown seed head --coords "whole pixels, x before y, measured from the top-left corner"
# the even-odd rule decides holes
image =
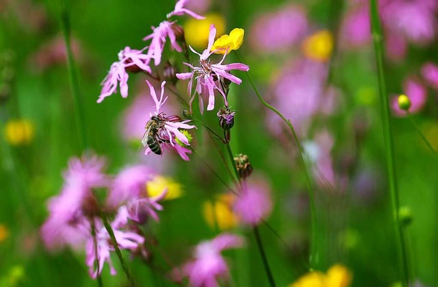
[[[247,225],[258,225],[272,210],[270,188],[266,182],[248,182],[235,199],[233,210],[240,221]]]

